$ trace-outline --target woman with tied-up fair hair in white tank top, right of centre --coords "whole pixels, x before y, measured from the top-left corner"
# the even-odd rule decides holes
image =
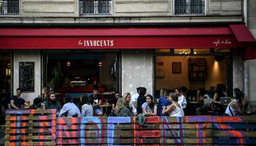
[[[171,105],[167,107],[164,106],[162,114],[169,114],[169,116],[175,117],[184,116],[183,107],[178,103],[178,96],[175,94],[175,92],[170,93],[168,100],[171,102]]]

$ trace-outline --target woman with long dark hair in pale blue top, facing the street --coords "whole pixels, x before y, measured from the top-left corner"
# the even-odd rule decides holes
[[[157,106],[153,102],[153,97],[148,94],[146,95],[146,102],[141,105],[142,113],[147,116],[156,116],[157,114]]]

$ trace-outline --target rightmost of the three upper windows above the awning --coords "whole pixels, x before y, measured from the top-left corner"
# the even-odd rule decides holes
[[[205,14],[205,0],[175,0],[175,15]]]

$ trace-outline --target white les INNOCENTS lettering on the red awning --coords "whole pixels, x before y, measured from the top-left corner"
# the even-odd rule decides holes
[[[79,40],[78,45],[84,47],[112,47],[114,46],[114,40]]]

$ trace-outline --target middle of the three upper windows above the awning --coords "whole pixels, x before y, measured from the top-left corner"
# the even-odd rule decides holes
[[[80,0],[80,15],[110,15],[111,0]]]

